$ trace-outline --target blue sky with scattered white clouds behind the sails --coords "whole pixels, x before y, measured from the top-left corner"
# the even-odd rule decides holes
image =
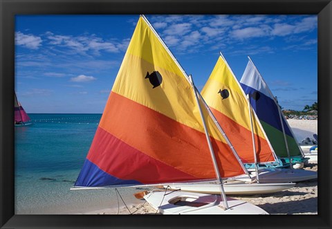
[[[317,102],[316,15],[145,15],[203,89],[221,51],[249,55],[284,109]],[[27,113],[102,113],[139,15],[17,15],[15,91]]]

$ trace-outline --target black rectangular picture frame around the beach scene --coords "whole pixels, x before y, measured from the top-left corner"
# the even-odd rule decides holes
[[[332,3],[331,0],[0,0],[1,228],[331,228]],[[14,210],[15,15],[273,14],[318,16],[320,155],[317,215],[163,216],[17,215]]]

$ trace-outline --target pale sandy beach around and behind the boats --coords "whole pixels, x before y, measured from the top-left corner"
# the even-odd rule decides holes
[[[298,141],[317,133],[317,120],[288,120],[288,124],[292,127]],[[317,161],[305,165],[304,170],[317,171]],[[140,191],[142,190],[136,190],[136,192]],[[295,187],[274,194],[229,197],[257,205],[269,214],[317,214],[317,194],[317,179],[314,179],[296,183]],[[132,199],[132,196],[127,197]],[[119,198],[119,204],[111,208],[86,209],[74,214],[158,214],[145,201],[137,200],[136,203],[130,201],[127,203],[126,196],[122,198],[125,205]]]

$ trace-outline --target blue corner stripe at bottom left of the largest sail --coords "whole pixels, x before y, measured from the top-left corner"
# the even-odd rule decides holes
[[[75,186],[84,187],[102,187],[111,185],[138,185],[138,181],[122,180],[116,176],[111,176],[100,170],[100,168],[93,164],[88,159],[85,160],[80,174],[78,175]]]

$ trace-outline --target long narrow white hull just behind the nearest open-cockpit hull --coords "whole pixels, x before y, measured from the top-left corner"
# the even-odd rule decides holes
[[[295,183],[234,183],[223,184],[225,194],[231,195],[255,195],[281,192],[295,186]],[[183,192],[199,192],[205,194],[220,194],[219,185],[216,183],[190,183],[169,185],[171,190]]]

